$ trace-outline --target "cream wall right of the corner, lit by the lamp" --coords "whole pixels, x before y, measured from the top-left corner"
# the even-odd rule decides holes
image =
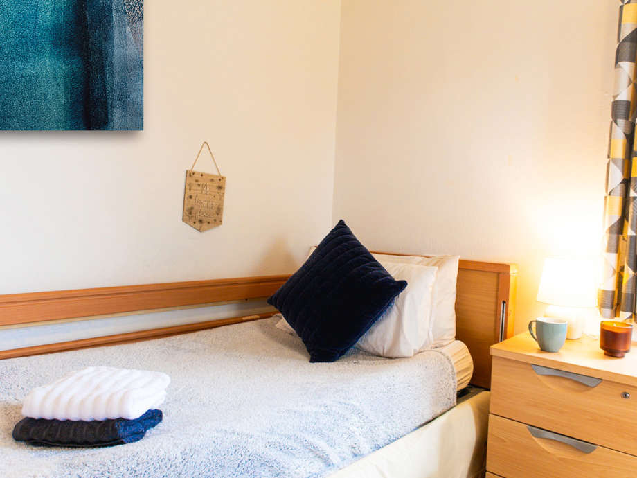
[[[332,222],[368,247],[599,254],[618,3],[343,0]]]

